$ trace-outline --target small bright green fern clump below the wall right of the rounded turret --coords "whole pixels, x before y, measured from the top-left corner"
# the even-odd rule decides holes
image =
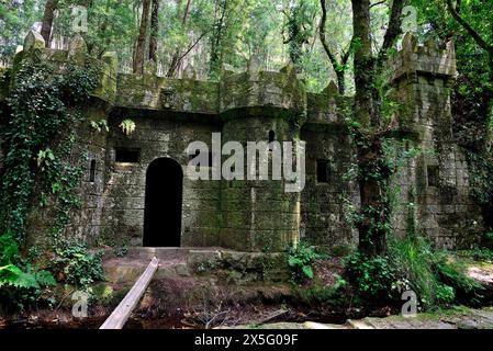
[[[314,248],[300,242],[288,250],[288,264],[292,269],[294,282],[303,282],[306,279],[313,279],[313,262],[321,259]]]

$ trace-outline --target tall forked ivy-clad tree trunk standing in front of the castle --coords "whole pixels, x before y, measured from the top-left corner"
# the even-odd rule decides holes
[[[358,183],[361,197],[361,219],[358,220],[359,250],[369,256],[386,251],[386,228],[391,216],[386,188],[392,170],[383,159],[383,137],[380,105],[383,97],[376,87],[378,75],[401,33],[401,13],[405,0],[394,0],[382,47],[373,54],[370,0],[351,0],[352,30],[357,41],[354,49],[355,105],[354,112],[361,125],[356,131]]]

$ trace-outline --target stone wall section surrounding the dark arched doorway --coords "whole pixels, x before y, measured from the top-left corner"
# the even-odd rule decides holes
[[[101,231],[114,240],[131,240],[142,246],[146,171],[158,158],[172,158],[187,172],[187,146],[201,140],[211,146],[211,134],[219,127],[208,123],[177,121],[165,114],[149,116],[145,111],[128,115],[115,110],[110,115],[110,135],[104,159],[105,179]],[[124,118],[132,117],[136,129],[130,136],[119,127]],[[115,149],[138,150],[137,162],[115,162]],[[191,181],[183,178],[182,245],[214,246],[220,229],[220,182]],[[166,228],[166,223],[163,223]]]

